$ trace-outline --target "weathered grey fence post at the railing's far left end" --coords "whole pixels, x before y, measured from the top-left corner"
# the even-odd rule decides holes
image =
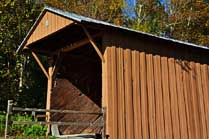
[[[7,139],[8,137],[8,126],[10,123],[10,114],[12,112],[12,105],[13,105],[13,100],[8,100],[7,102],[7,115],[6,115],[6,123],[5,123],[5,133],[4,133],[4,137],[5,139]]]

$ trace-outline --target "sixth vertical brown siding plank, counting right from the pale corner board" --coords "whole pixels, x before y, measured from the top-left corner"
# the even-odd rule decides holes
[[[148,115],[150,138],[156,138],[156,121],[155,121],[155,92],[153,80],[153,59],[152,54],[146,54],[147,61],[147,93],[148,93]]]

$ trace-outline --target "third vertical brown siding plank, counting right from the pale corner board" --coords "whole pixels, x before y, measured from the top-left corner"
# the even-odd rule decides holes
[[[133,92],[131,76],[131,50],[126,49],[124,54],[125,64],[125,107],[126,107],[126,139],[134,139],[133,121]]]

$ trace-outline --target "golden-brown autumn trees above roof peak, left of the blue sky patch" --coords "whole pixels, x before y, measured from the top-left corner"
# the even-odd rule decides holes
[[[46,5],[122,25],[124,0],[45,0]]]

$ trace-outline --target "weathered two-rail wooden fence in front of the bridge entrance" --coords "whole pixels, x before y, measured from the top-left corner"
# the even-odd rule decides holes
[[[90,114],[90,115],[100,115],[102,116],[102,122],[100,123],[92,123],[92,122],[57,122],[57,121],[12,121],[11,115],[13,112],[31,112],[33,116],[37,112],[53,112],[53,113],[68,113],[68,114]],[[5,123],[5,139],[9,136],[9,126],[11,124],[40,124],[40,125],[70,125],[70,126],[89,126],[89,127],[101,127],[102,128],[102,139],[106,139],[106,109],[102,108],[101,112],[90,112],[90,111],[75,111],[75,110],[56,110],[56,109],[37,109],[37,108],[21,108],[21,107],[13,107],[13,101],[8,100],[7,105],[7,115],[6,115],[6,123]]]

